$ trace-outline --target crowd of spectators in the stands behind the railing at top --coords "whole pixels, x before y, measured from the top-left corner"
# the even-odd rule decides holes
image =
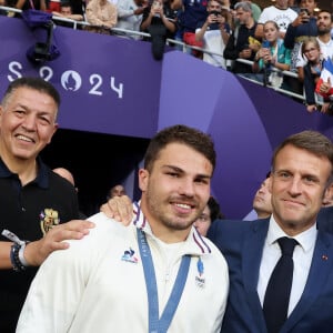
[[[157,60],[163,58],[165,43],[182,47],[211,65],[304,97],[309,112],[333,113],[331,81],[321,78],[324,60],[333,58],[332,10],[319,10],[316,0],[276,0],[266,8],[248,0],[0,0],[0,4],[69,19],[57,21],[61,26],[83,21],[88,31],[151,41]],[[304,47],[309,40],[311,51]]]

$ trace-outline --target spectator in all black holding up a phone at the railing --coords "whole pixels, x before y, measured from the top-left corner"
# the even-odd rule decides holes
[[[140,30],[150,33],[152,54],[155,60],[163,58],[167,38],[174,37],[175,19],[175,7],[170,0],[154,0],[143,11]]]

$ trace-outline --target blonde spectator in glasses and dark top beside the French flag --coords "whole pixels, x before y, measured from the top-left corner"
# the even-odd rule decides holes
[[[303,69],[306,110],[313,112],[319,110],[319,102],[323,102],[322,97],[315,93],[316,82],[321,77],[323,67],[321,47],[317,39],[310,37],[302,43],[301,51],[306,59],[306,64]]]

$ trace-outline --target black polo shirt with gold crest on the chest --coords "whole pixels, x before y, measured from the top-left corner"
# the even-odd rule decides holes
[[[21,240],[36,241],[52,225],[79,218],[75,189],[38,159],[37,179],[24,186],[0,159],[0,233],[3,229]],[[2,235],[1,241],[8,241]],[[0,332],[14,332],[20,310],[37,272],[0,270]],[[52,283],[52,281],[50,281]]]

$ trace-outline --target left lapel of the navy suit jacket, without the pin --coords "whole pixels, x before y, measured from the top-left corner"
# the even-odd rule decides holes
[[[242,275],[253,320],[256,322],[258,327],[260,327],[258,332],[265,332],[265,321],[256,286],[262,250],[268,234],[270,219],[256,220],[249,223],[252,223],[252,225],[244,242]]]

